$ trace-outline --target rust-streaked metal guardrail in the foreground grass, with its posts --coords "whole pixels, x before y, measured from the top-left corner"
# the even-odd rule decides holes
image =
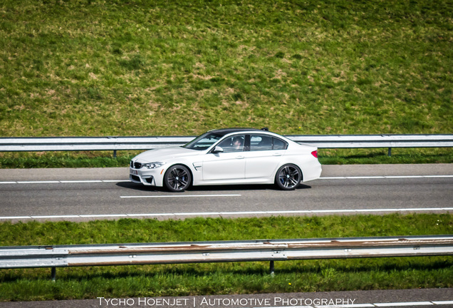
[[[0,247],[0,269],[453,255],[453,235]]]

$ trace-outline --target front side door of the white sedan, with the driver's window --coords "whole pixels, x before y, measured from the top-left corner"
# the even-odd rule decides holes
[[[245,177],[245,135],[233,135],[217,145],[223,152],[208,153],[203,160],[203,181],[233,183]]]

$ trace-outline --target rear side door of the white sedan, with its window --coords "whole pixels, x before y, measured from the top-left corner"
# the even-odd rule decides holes
[[[271,135],[250,135],[249,151],[246,152],[246,179],[274,178],[286,147],[283,140]]]

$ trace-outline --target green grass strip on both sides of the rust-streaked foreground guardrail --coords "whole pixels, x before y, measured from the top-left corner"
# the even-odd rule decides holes
[[[1,245],[442,235],[452,214],[4,222]],[[228,262],[0,271],[0,301],[453,287],[453,257]]]

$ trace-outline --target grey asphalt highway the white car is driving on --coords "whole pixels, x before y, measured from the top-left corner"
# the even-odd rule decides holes
[[[324,165],[294,191],[130,183],[127,168],[0,170],[0,221],[452,212],[453,164]]]

